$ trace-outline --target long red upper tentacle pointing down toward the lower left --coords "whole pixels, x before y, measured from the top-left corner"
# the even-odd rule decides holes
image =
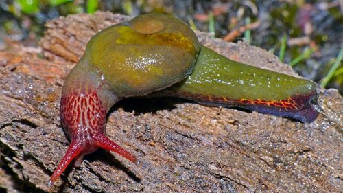
[[[71,141],[71,144],[70,144],[66,154],[64,155],[62,161],[60,162],[60,164],[58,164],[56,170],[51,175],[50,180],[47,184],[48,187],[52,186],[54,181],[56,181],[56,179],[58,179],[58,177],[60,177],[60,174],[62,174],[62,172],[64,172],[65,168],[67,168],[69,163],[76,156],[80,155],[80,152],[82,152],[82,146],[80,145],[80,143],[78,143],[78,141],[75,141],[75,140]]]

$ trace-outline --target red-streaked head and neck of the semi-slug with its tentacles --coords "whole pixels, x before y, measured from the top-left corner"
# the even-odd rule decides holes
[[[75,157],[75,165],[80,165],[84,155],[98,148],[117,152],[126,159],[136,162],[137,159],[133,155],[104,135],[107,112],[95,90],[82,90],[79,93],[62,95],[60,112],[62,126],[71,139],[71,144],[51,175],[50,186]]]

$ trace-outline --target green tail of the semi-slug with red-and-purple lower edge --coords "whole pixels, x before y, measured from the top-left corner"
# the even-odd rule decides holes
[[[312,122],[318,116],[316,84],[237,63],[202,47],[186,80],[162,91],[165,95],[212,106],[239,106],[260,113]]]

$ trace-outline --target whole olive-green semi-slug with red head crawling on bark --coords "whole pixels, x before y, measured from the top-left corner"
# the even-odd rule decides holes
[[[201,45],[173,16],[143,14],[97,33],[67,76],[60,119],[71,144],[51,175],[51,186],[69,163],[80,166],[98,148],[137,159],[104,134],[106,113],[123,98],[173,96],[213,106],[312,122],[318,116],[316,84],[237,63]]]

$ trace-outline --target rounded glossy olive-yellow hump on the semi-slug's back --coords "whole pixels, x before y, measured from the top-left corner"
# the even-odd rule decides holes
[[[163,14],[143,14],[99,32],[81,65],[104,75],[118,98],[169,87],[193,71],[200,43],[188,25]]]

